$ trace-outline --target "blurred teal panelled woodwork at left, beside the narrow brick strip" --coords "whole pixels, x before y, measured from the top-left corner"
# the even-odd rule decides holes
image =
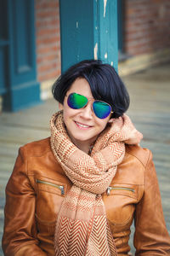
[[[2,1],[1,1],[2,2]],[[37,82],[34,0],[3,0],[3,109],[17,111],[41,102]],[[4,38],[4,36],[2,36]]]

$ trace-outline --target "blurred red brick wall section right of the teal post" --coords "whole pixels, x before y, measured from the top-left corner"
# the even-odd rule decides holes
[[[170,47],[170,1],[125,0],[125,52],[151,53]]]

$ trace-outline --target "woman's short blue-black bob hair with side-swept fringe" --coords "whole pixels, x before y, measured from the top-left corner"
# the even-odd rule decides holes
[[[115,69],[102,61],[86,60],[71,66],[54,82],[54,99],[63,104],[65,94],[78,78],[88,81],[95,100],[111,105],[111,118],[119,118],[129,107],[129,95]]]

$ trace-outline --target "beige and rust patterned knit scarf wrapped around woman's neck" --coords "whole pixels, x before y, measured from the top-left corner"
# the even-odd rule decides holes
[[[73,183],[59,209],[55,255],[117,255],[101,195],[122,162],[125,143],[139,143],[142,134],[123,115],[102,131],[88,155],[71,143],[62,112],[53,115],[50,125],[54,156]]]

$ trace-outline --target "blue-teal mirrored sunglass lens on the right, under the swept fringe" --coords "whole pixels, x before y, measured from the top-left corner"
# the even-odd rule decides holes
[[[105,102],[93,103],[94,113],[99,119],[105,119],[111,113],[111,106]]]

